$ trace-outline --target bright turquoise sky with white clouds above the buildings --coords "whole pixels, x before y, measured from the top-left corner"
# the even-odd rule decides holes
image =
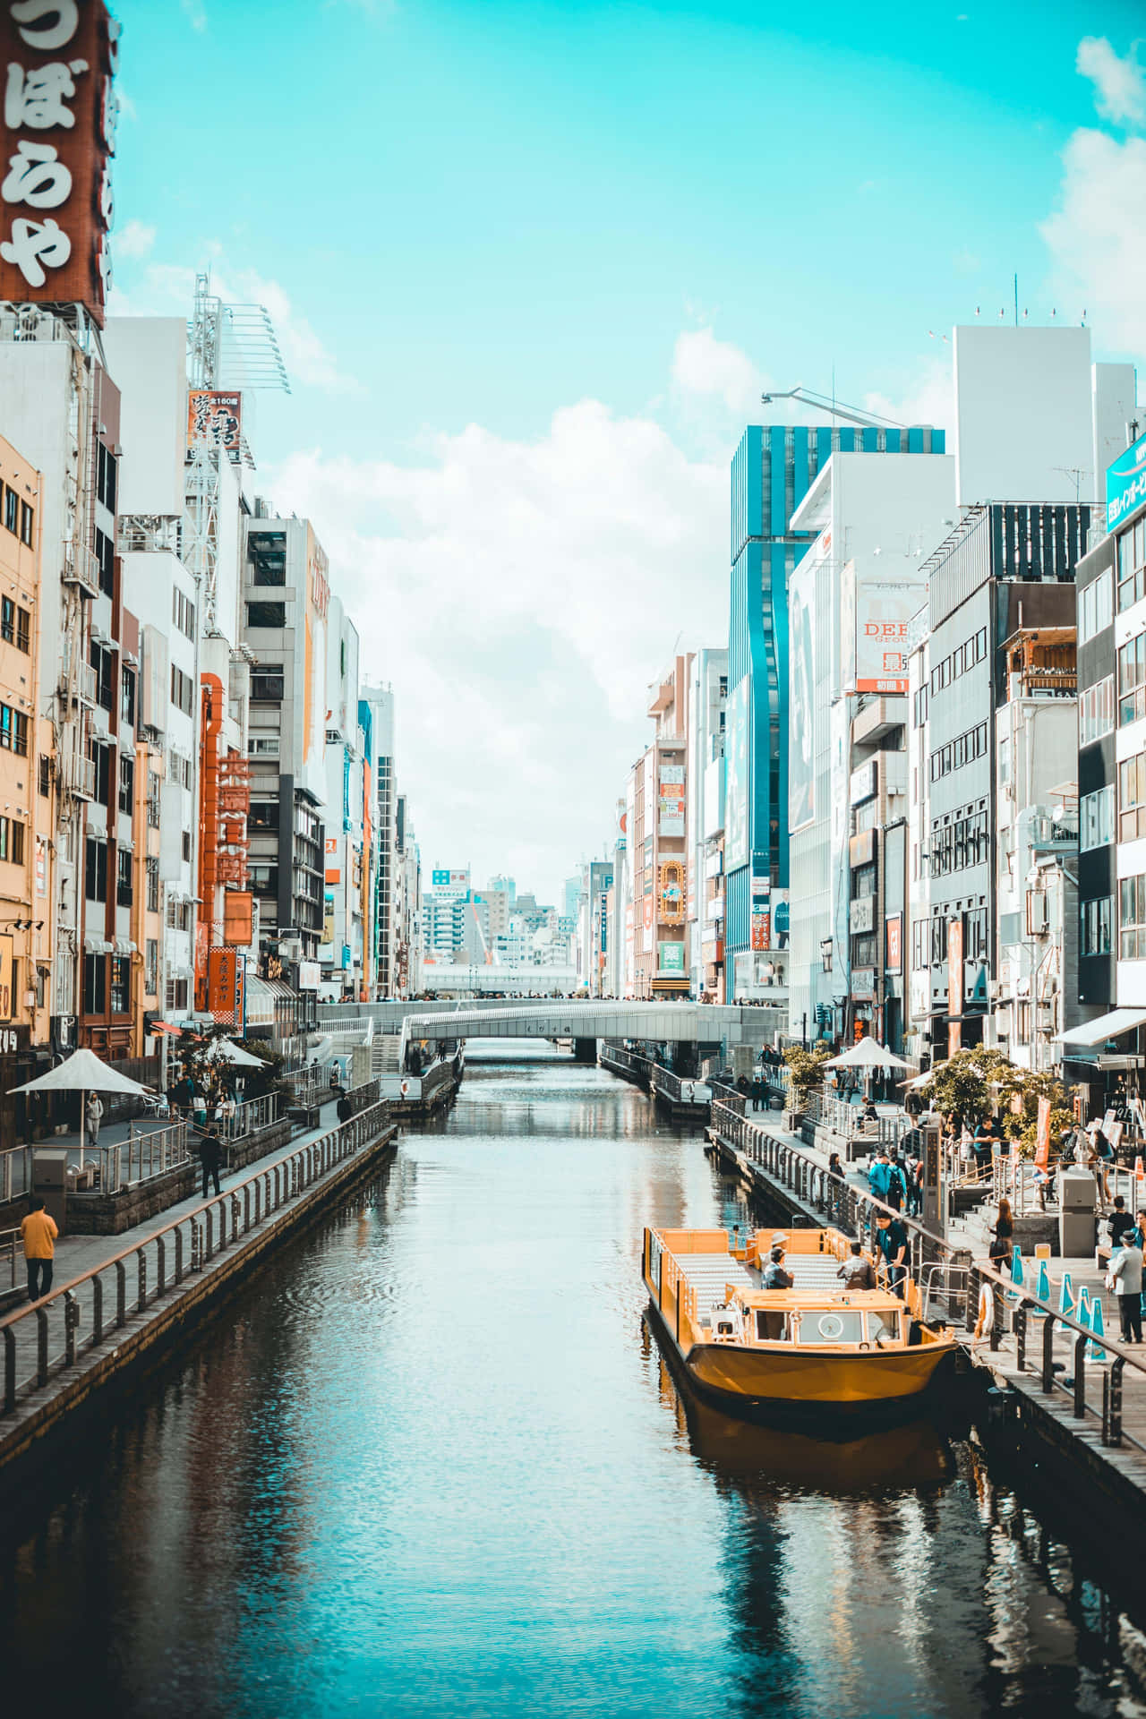
[[[1103,83],[1077,70],[1077,7],[964,3],[120,0],[122,303],[177,311],[210,263],[270,304],[294,392],[259,402],[259,464],[361,591],[431,863],[464,842],[553,889],[612,827],[646,682],[680,626],[718,641],[723,473],[761,380],[835,370],[842,399],[930,406],[938,337],[1009,306],[1014,272],[1031,320],[1086,306],[1096,356],[1137,359],[1132,304],[1077,253],[1117,256],[1139,187],[1141,5],[1088,10],[1124,57]],[[572,562],[546,521],[576,521]],[[624,658],[570,615],[608,624],[622,578]],[[421,660],[402,641],[442,591]],[[641,593],[680,614],[641,626]],[[552,744],[586,686],[591,774]],[[430,779],[459,722],[488,739],[460,789]],[[531,808],[552,796],[545,834],[474,782],[514,770]]]

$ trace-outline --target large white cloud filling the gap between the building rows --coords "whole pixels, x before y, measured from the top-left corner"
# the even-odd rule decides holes
[[[273,474],[332,557],[363,674],[393,682],[428,865],[555,899],[605,839],[674,639],[727,636],[727,481],[598,401],[534,442],[471,425],[416,464],[313,450]]]

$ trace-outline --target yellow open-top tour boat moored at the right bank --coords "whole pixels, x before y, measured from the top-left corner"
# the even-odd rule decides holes
[[[783,1236],[790,1289],[765,1289]],[[917,1413],[955,1339],[919,1318],[919,1289],[845,1289],[838,1229],[646,1229],[644,1284],[689,1382],[728,1413],[832,1416]]]

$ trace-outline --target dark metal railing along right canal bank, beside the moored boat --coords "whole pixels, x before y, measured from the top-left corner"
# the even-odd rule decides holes
[[[972,1332],[978,1322],[981,1288],[984,1282],[990,1284],[993,1291],[991,1349],[1000,1348],[1003,1324],[1010,1312],[1015,1337],[1015,1365],[1021,1373],[1027,1368],[1029,1322],[1041,1318],[1041,1389],[1048,1396],[1065,1391],[1072,1398],[1072,1413],[1077,1420],[1084,1420],[1088,1415],[1096,1416],[1101,1422],[1103,1444],[1132,1444],[1136,1449],[1146,1453],[1146,1444],[1127,1434],[1122,1425],[1124,1370],[1129,1365],[1141,1375],[1146,1386],[1146,1360],[1131,1353],[1115,1337],[1106,1337],[1103,1332],[1096,1334],[1072,1313],[1064,1313],[1052,1306],[1050,1301],[1039,1300],[1026,1284],[1017,1284],[1003,1272],[995,1270],[993,1265],[976,1262],[966,1248],[952,1246],[943,1236],[924,1229],[917,1219],[905,1217],[873,1195],[864,1193],[863,1188],[854,1188],[842,1176],[833,1176],[806,1148],[777,1140],[758,1123],[739,1116],[728,1105],[713,1105],[713,1128],[735,1145],[749,1162],[763,1169],[766,1176],[780,1183],[782,1188],[795,1195],[804,1205],[823,1214],[837,1229],[859,1239],[864,1229],[871,1231],[875,1217],[880,1212],[887,1212],[893,1220],[904,1224],[907,1231],[907,1257],[904,1265],[907,1267],[909,1279],[916,1286],[928,1284],[928,1279],[931,1279],[933,1286],[936,1277],[940,1277],[942,1288],[931,1288],[931,1293],[936,1300],[947,1301],[948,1317],[962,1318],[967,1332]],[[923,1293],[919,1288],[916,1288],[916,1305],[923,1313]],[[1069,1375],[1069,1384],[1065,1377],[1058,1379],[1055,1373],[1053,1346],[1057,1325],[1070,1334],[1074,1372]],[[1086,1367],[1088,1348],[1091,1360],[1094,1360],[1094,1349],[1101,1351],[1101,1363],[1096,1363],[1089,1372]],[[1103,1367],[1101,1372],[1098,1372],[1098,1365]],[[1101,1401],[1098,1406],[1093,1406],[1086,1399],[1088,1380],[1100,1382]]]

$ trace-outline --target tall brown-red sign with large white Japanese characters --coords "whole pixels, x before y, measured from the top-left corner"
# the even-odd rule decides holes
[[[84,304],[100,327],[117,43],[103,0],[0,0],[0,299]]]

